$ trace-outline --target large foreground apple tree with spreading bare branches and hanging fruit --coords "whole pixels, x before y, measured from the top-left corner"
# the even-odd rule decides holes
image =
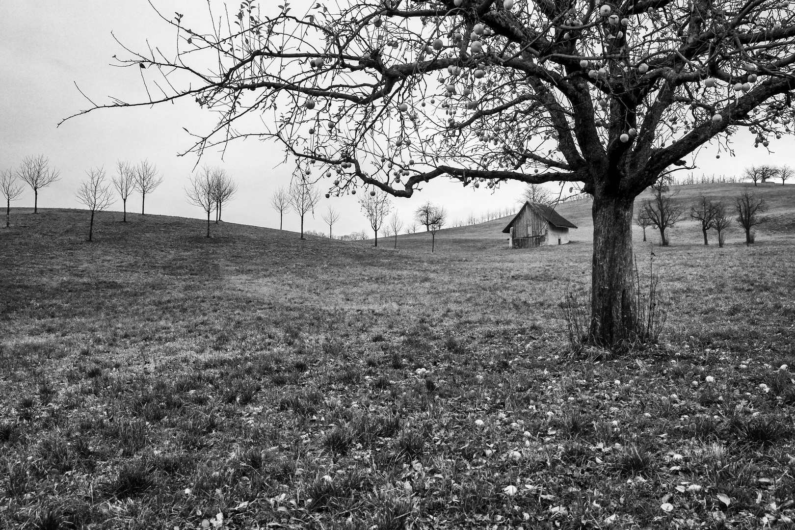
[[[78,114],[184,99],[218,118],[188,150],[270,139],[334,194],[582,183],[596,344],[642,335],[634,198],[704,145],[731,153],[747,128],[765,148],[792,120],[795,16],[781,0],[276,4],[244,0],[222,24],[158,13],[173,41],[118,65],[165,94]]]

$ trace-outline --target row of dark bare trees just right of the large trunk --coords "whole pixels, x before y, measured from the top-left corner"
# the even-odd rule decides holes
[[[684,219],[684,206],[673,201],[676,194],[669,194],[669,188],[665,184],[654,184],[651,189],[653,198],[643,201],[641,207],[638,208],[635,222],[643,229],[643,241],[646,241],[646,228],[653,226],[660,231],[661,245],[668,246],[669,240],[665,235],[665,230]],[[718,235],[718,246],[723,247],[726,230],[731,226],[731,211],[734,210],[737,215],[735,222],[743,227],[746,245],[750,245],[754,242],[754,233],[751,229],[766,222],[767,218],[761,215],[766,209],[765,199],[744,190],[735,197],[733,208],[722,200],[712,201],[702,195],[696,203],[690,206],[688,215],[700,223],[701,232],[704,234],[704,245],[709,244],[708,230],[715,230]]]

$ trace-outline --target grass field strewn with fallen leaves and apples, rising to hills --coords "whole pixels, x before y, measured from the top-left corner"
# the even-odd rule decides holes
[[[778,188],[754,190],[772,205],[755,246],[636,234],[668,323],[619,357],[566,339],[585,202],[559,209],[570,245],[509,250],[502,219],[441,230],[435,253],[428,234],[207,239],[199,219],[114,212],[87,243],[85,212],[15,209],[0,528],[791,528],[795,187]]]

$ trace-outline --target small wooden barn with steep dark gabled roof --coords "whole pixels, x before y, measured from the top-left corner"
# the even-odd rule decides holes
[[[525,203],[522,210],[502,230],[510,234],[510,246],[527,249],[531,246],[565,245],[568,229],[576,226],[558,214],[551,206]]]

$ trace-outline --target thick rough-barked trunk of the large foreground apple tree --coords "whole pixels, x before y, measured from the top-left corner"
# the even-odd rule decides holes
[[[592,207],[594,250],[591,273],[589,339],[612,346],[638,335],[634,283],[632,211],[634,197],[596,191]]]

